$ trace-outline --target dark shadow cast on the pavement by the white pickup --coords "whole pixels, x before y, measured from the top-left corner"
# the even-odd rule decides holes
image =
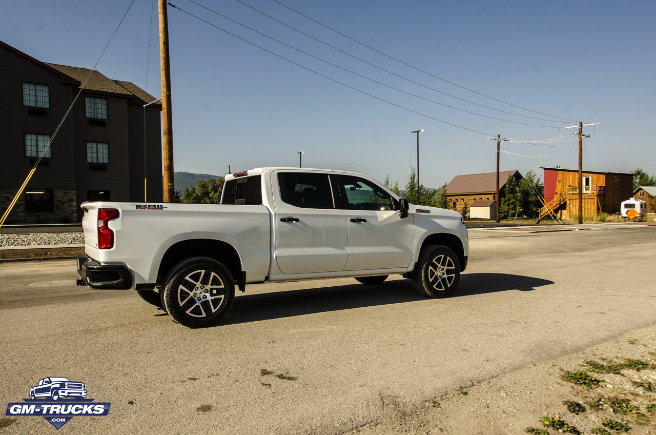
[[[550,284],[554,284],[554,282],[508,273],[465,273],[461,276],[460,284],[450,298],[508,290],[526,292]],[[381,285],[354,283],[352,285],[317,286],[302,290],[245,294],[235,298],[230,314],[222,321],[222,324],[234,325],[342,309],[420,301],[430,301],[430,299],[417,293],[413,282],[409,279],[388,281]]]

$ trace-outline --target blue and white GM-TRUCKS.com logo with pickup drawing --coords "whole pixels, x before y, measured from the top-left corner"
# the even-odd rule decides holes
[[[58,429],[73,417],[108,415],[111,403],[87,399],[87,385],[68,378],[47,377],[30,388],[30,398],[9,403],[5,415],[10,417],[43,417]]]

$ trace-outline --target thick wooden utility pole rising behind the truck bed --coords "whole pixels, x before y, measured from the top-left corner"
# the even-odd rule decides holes
[[[159,58],[162,77],[162,131],[164,158],[164,202],[175,200],[173,179],[173,117],[171,116],[171,65],[169,64],[169,19],[167,1],[158,0]]]

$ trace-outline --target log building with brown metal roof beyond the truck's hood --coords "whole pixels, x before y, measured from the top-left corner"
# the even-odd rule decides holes
[[[523,177],[522,174],[518,171],[502,171],[499,172],[499,196],[503,198],[505,196],[505,187],[508,177],[515,177],[517,181],[520,181]],[[483,207],[487,207],[490,210],[488,213],[491,213],[491,210],[494,210],[494,215],[487,219],[496,219],[497,218],[497,173],[488,172],[488,173],[472,173],[469,175],[456,175],[453,177],[449,184],[447,184],[447,198],[449,198],[449,205],[451,205],[451,210],[455,210],[466,216],[470,213],[472,204],[475,201],[486,201],[485,203],[477,202],[476,206],[481,206],[480,204],[485,204]],[[478,212],[481,210],[475,210],[475,214],[478,216]],[[474,218],[471,216],[470,218]]]

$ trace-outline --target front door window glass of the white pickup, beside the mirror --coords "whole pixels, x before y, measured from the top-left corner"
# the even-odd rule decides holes
[[[349,210],[394,210],[394,199],[382,187],[359,177],[339,177],[344,208]]]

